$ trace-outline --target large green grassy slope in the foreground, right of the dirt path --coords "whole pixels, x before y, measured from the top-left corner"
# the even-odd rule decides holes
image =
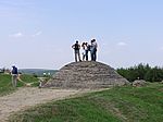
[[[115,87],[41,105],[10,122],[162,122],[163,84]]]

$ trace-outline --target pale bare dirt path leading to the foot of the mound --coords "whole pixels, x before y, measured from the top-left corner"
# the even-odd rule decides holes
[[[86,90],[85,90],[86,91]],[[23,87],[17,91],[0,97],[0,120],[4,122],[8,117],[16,111],[24,110],[38,103],[50,100],[59,100],[72,95],[79,95],[84,90],[75,89],[47,89],[36,87]]]

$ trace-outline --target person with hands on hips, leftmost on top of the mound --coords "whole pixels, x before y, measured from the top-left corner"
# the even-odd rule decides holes
[[[80,45],[78,44],[78,40],[76,40],[76,42],[72,46],[72,48],[74,49],[74,52],[75,52],[75,62],[77,62],[77,57],[78,57],[78,60],[80,60],[80,53],[79,53],[79,49],[80,49]]]

